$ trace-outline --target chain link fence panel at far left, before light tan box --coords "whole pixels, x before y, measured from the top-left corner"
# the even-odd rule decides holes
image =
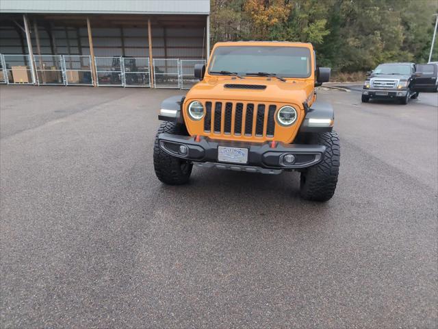
[[[8,84],[34,84],[29,55],[3,55]]]

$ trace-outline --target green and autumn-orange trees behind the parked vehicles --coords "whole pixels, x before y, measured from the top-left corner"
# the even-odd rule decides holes
[[[211,0],[211,38],[311,42],[319,65],[368,71],[426,62],[437,10],[435,0]]]

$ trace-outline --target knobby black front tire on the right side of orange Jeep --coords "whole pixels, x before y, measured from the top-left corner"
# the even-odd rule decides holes
[[[301,173],[300,195],[311,201],[328,201],[333,197],[339,174],[341,149],[336,132],[324,132],[315,135],[315,144],[324,145],[324,159],[307,171]]]

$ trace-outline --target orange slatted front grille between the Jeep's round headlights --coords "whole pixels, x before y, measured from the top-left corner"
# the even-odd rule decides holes
[[[276,105],[235,101],[206,101],[204,132],[213,137],[256,136],[273,138]]]

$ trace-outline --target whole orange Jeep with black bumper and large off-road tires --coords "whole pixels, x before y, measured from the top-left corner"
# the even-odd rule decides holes
[[[310,43],[218,42],[200,79],[162,102],[154,146],[157,178],[185,184],[192,167],[300,172],[300,195],[327,201],[339,173],[333,108],[316,101],[329,68]]]

